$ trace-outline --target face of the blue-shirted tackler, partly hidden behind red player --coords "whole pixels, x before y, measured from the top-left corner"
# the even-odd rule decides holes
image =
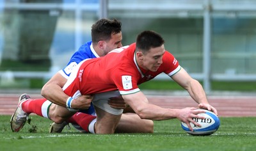
[[[111,35],[111,39],[106,42],[106,49],[104,50],[105,54],[112,51],[113,49],[122,47],[122,32],[115,33]]]

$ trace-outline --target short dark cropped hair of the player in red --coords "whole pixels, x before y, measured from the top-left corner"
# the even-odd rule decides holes
[[[143,31],[137,36],[136,50],[147,52],[151,48],[160,47],[164,44],[161,35],[154,31]]]

